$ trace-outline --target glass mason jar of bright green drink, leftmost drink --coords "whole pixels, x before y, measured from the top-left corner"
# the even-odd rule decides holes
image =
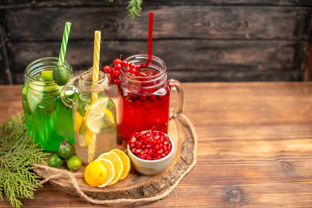
[[[60,100],[61,86],[52,78],[58,58],[47,57],[30,63],[25,69],[22,104],[28,133],[46,151],[57,151],[60,142],[74,143],[72,109]],[[64,62],[70,76],[72,68]]]

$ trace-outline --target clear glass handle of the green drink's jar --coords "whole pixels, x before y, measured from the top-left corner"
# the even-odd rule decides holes
[[[79,95],[79,89],[74,84],[68,84],[65,85],[61,91],[61,101],[63,104],[65,104],[67,107],[72,108],[74,104],[76,104],[78,97],[74,96]]]

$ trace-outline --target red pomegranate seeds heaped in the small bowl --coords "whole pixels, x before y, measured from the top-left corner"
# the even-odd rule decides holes
[[[168,136],[162,131],[139,132],[128,140],[131,152],[144,160],[158,160],[171,152]]]

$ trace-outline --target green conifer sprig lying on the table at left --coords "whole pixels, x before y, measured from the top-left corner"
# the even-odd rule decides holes
[[[42,187],[39,176],[31,172],[33,163],[46,164],[49,153],[38,148],[27,133],[22,113],[17,113],[0,126],[0,199],[3,194],[14,208],[19,199],[33,199],[36,188]]]

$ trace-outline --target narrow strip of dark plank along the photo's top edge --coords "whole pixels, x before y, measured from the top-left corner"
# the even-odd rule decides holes
[[[52,6],[113,6],[127,5],[124,0],[109,3],[103,0],[2,0],[0,8],[12,7],[52,7]],[[144,0],[143,8],[154,5],[278,5],[312,6],[310,0]]]

